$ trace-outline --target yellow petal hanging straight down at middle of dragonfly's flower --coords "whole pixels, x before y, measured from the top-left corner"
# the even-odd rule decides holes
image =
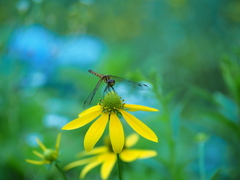
[[[115,113],[110,116],[109,132],[113,151],[120,153],[124,145],[124,131],[122,123]]]

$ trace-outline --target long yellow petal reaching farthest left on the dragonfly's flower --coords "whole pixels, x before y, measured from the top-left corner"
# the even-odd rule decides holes
[[[94,113],[87,114],[85,116],[81,116],[77,119],[72,120],[68,124],[66,124],[62,129],[63,130],[72,130],[72,129],[77,129],[80,128],[92,120],[94,120],[96,117],[98,117],[101,114],[101,110],[95,111]]]

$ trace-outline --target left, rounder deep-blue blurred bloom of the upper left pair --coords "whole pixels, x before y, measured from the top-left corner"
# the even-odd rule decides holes
[[[40,25],[32,25],[15,31],[9,49],[20,60],[41,68],[53,58],[56,46],[51,32]]]

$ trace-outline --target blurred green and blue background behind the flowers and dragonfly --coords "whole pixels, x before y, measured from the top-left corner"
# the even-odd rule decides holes
[[[0,179],[62,178],[25,159],[38,159],[36,137],[54,148],[62,132],[60,166],[76,160],[90,125],[61,127],[98,81],[88,69],[147,83],[117,92],[160,110],[134,113],[159,137],[135,148],[158,156],[124,164],[125,179],[240,179],[239,23],[238,0],[1,0]]]

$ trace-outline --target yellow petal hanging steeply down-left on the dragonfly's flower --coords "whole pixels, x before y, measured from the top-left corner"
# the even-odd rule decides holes
[[[108,117],[108,113],[103,113],[88,129],[84,138],[84,148],[87,152],[92,150],[102,136],[108,122]]]

